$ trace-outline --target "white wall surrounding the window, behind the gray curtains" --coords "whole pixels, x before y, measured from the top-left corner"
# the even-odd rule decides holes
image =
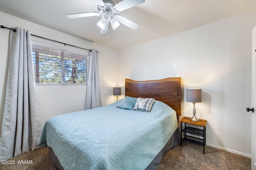
[[[99,71],[102,105],[116,101],[116,97],[113,96],[113,87],[117,86],[117,75],[115,74],[117,72],[117,63],[115,63],[117,61],[116,51],[2,12],[0,12],[0,18],[1,25],[6,27],[21,27],[30,30],[31,34],[34,35],[86,49],[98,49],[100,51]],[[9,32],[8,29],[0,29],[0,132],[8,73]],[[86,86],[36,86],[36,92],[42,125],[47,119],[55,115],[84,110],[85,108]]]

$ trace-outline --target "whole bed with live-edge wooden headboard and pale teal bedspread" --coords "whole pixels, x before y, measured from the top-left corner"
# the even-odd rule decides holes
[[[156,170],[180,143],[181,78],[125,79],[125,98],[107,106],[52,117],[38,145],[57,169]],[[150,111],[123,108],[127,99],[154,98]]]

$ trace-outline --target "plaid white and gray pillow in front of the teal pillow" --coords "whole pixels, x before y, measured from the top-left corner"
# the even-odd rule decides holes
[[[153,98],[138,98],[133,107],[133,110],[150,111],[154,100],[155,99]]]

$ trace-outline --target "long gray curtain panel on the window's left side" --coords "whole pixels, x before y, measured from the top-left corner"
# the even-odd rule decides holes
[[[31,35],[30,31],[21,28],[16,30],[10,32],[0,160],[40,148],[37,144],[42,124],[36,99]]]

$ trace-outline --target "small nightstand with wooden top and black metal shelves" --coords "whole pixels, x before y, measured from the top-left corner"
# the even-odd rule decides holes
[[[190,117],[183,117],[180,120],[180,146],[182,147],[182,141],[187,141],[187,142],[191,142],[194,143],[196,145],[201,145],[204,147],[205,145],[205,134],[206,134],[206,122],[207,120],[204,119],[199,119],[199,121],[191,121]],[[182,123],[184,123],[184,129],[182,129]],[[196,126],[201,126],[204,129],[199,129],[197,127],[190,127],[189,125],[196,125]],[[182,139],[182,132],[184,132],[185,137]],[[192,135],[196,135],[198,137],[192,137],[192,136],[188,136],[187,134],[192,134]],[[200,138],[202,137],[202,139]],[[203,152],[204,153],[204,152]]]

